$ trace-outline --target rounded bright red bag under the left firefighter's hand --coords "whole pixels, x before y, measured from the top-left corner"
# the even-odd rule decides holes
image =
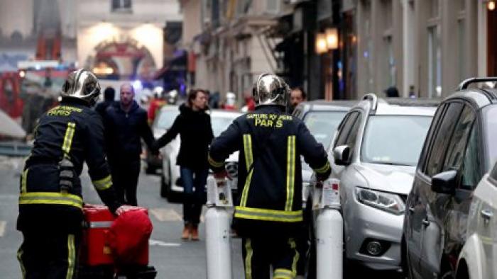
[[[145,208],[121,213],[111,225],[107,239],[118,266],[148,264],[148,239],[152,222]]]

